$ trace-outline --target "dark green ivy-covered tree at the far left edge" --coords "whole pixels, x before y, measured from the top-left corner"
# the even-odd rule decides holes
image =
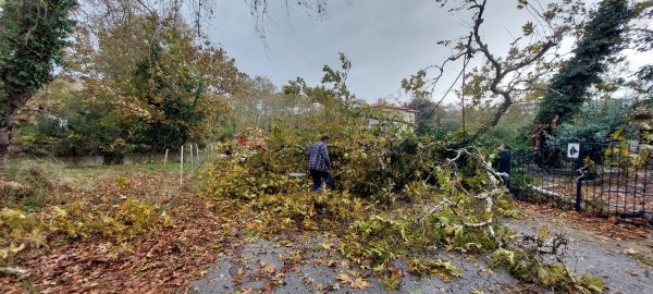
[[[52,79],[52,69],[75,22],[75,0],[12,0],[0,11],[0,160],[13,136],[16,111]]]

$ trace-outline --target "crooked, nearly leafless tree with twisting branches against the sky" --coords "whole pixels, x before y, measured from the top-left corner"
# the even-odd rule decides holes
[[[429,65],[402,82],[406,90],[418,97],[429,97],[441,84],[449,63],[461,62],[465,88],[461,95],[471,96],[472,106],[485,103],[490,118],[480,123],[461,142],[467,145],[486,133],[498,123],[509,107],[532,90],[534,85],[557,69],[565,54],[560,42],[566,37],[578,34],[586,8],[582,1],[541,4],[538,0],[519,0],[517,9],[526,11],[531,21],[523,24],[522,35],[515,37],[505,54],[500,54],[488,45],[483,36],[486,0],[438,0],[449,12],[471,12],[469,33],[454,40],[443,40],[440,45],[453,49],[453,53],[439,64]],[[468,64],[479,64],[466,69]],[[432,73],[435,73],[433,76]],[[454,83],[457,83],[456,79]],[[452,85],[453,86],[453,85]],[[448,91],[447,91],[448,93]],[[443,97],[444,99],[444,97]]]

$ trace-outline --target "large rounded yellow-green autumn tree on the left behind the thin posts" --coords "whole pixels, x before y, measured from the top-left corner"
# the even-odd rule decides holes
[[[78,32],[69,66],[83,86],[78,102],[106,110],[100,117],[111,123],[100,130],[123,131],[99,140],[103,155],[204,142],[225,119],[225,96],[239,90],[244,74],[222,48],[201,42],[190,24],[173,21],[134,12],[130,22]],[[119,150],[113,142],[131,146]]]

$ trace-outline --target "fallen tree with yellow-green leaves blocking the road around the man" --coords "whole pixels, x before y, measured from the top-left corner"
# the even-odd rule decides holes
[[[460,277],[451,261],[431,258],[448,250],[488,255],[527,282],[602,290],[600,280],[576,275],[559,258],[544,261],[544,254],[563,253],[564,237],[520,236],[501,224],[501,218],[518,215],[503,185],[507,174],[479,151],[401,136],[392,123],[370,127],[346,108],[323,115],[331,118],[333,189],[315,193],[309,181],[288,176],[306,164],[305,148],[295,146],[325,132],[318,115],[296,128],[274,128],[267,148],[244,162],[236,155],[208,164],[199,174],[202,199],[220,216],[251,220],[251,237],[296,231],[334,236],[343,256],[391,289],[401,287],[396,260],[406,261],[412,274]]]

